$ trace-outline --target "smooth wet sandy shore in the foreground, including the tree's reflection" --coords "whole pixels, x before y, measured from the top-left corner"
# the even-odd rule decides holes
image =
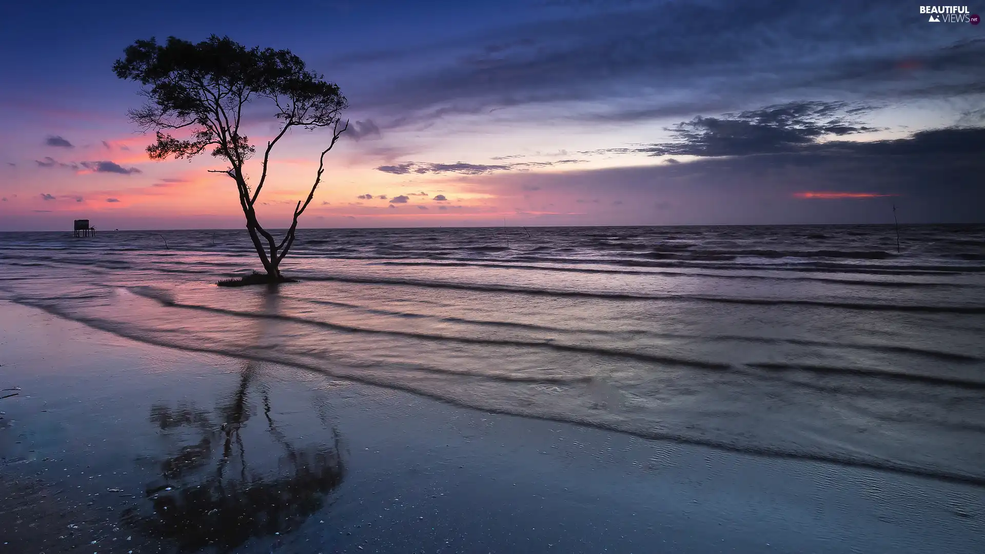
[[[0,553],[985,551],[978,487],[493,415],[0,301]]]

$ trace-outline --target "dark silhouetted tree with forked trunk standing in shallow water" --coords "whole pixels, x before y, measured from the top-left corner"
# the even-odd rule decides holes
[[[339,87],[306,69],[290,50],[246,48],[216,35],[197,44],[173,36],[164,45],[154,38],[137,40],[116,60],[113,71],[121,79],[144,86],[142,94],[149,102],[130,110],[130,116],[144,131],[156,131],[157,142],[147,147],[153,160],[192,158],[211,147],[213,156],[229,164],[226,170],[213,173],[225,173],[235,181],[246,229],[267,278],[282,280],[279,268],[295,241],[297,218],[321,182],[325,155],[349,126],[348,121],[341,123],[340,114],[348,103]],[[257,102],[273,108],[280,130],[267,142],[260,178],[251,184],[243,164],[256,149],[241,123],[244,107]],[[257,221],[254,206],[267,181],[271,150],[294,127],[329,127],[332,140],[321,152],[311,191],[305,200],[297,201],[291,228],[278,242]],[[178,129],[183,129],[178,137],[170,134]]]

